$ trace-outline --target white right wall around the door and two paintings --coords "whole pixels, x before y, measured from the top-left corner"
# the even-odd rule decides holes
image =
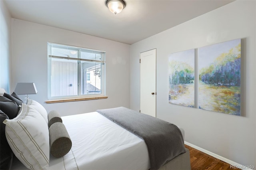
[[[185,140],[242,165],[256,166],[256,1],[235,1],[131,45],[131,109],[140,109],[140,52],[156,48],[156,117],[185,130]],[[173,16],[178,17],[178,16]],[[168,22],[168,21],[166,21]],[[171,53],[242,38],[242,115],[168,103]]]

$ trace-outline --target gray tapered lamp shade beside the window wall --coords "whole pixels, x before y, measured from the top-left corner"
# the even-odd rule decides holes
[[[17,83],[14,92],[18,95],[30,95],[36,94],[37,90],[35,83]]]

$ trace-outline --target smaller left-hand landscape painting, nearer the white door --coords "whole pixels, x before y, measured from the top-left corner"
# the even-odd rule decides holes
[[[194,58],[194,49],[169,56],[169,103],[194,107]]]

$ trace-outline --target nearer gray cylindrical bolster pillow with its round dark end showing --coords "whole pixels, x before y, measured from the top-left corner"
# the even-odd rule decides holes
[[[66,155],[72,146],[72,141],[63,123],[56,122],[49,128],[50,152],[58,158]]]

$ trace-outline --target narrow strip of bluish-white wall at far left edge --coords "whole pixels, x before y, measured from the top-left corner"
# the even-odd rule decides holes
[[[0,87],[9,93],[11,86],[11,16],[3,0],[0,0],[0,9]]]

